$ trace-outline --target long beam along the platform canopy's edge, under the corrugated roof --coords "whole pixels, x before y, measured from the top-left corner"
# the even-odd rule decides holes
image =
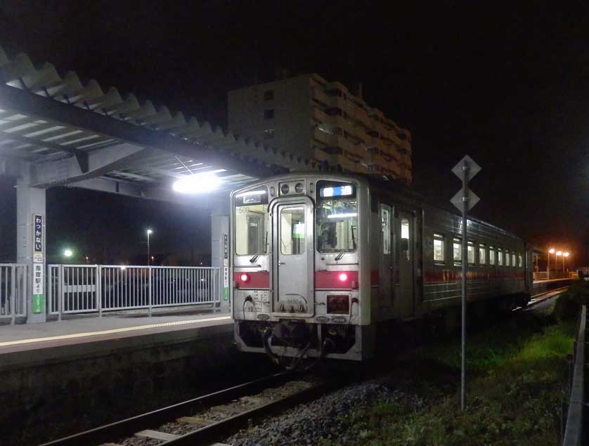
[[[155,131],[122,122],[103,114],[60,103],[58,100],[4,84],[0,84],[0,108],[17,110],[28,116],[39,117],[39,119],[52,119],[143,147],[153,147],[186,157],[198,157],[200,161],[207,164],[258,178],[288,171],[280,166],[268,167],[250,162],[231,152],[219,152],[208,145],[188,143],[170,136],[164,131]]]

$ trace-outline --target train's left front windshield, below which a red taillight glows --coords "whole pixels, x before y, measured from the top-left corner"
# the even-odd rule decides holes
[[[268,188],[235,195],[235,254],[266,254],[268,242]]]

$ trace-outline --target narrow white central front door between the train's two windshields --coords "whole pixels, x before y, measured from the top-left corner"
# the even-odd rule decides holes
[[[313,205],[278,203],[273,209],[274,312],[313,315]]]

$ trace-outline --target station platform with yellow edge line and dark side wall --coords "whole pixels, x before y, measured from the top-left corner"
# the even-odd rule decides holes
[[[231,378],[242,361],[228,313],[2,325],[0,426],[9,427],[3,441],[37,444],[32,438],[131,416],[155,408],[141,406],[153,401],[182,400],[181,389]]]

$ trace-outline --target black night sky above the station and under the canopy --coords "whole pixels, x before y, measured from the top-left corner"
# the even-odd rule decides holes
[[[277,69],[362,82],[368,104],[412,132],[414,185],[428,199],[448,202],[460,187],[450,169],[469,154],[483,168],[474,216],[589,261],[583,1],[200,3],[0,0],[0,45],[221,126],[227,91]],[[80,192],[49,193],[49,215],[54,206],[67,215],[56,244],[101,237],[130,256],[144,247],[119,231],[145,221],[161,227],[161,251],[184,246],[185,209],[170,205],[163,218],[160,204],[99,195],[101,209],[84,194],[96,206],[82,215]],[[195,218],[209,230],[208,216]]]

